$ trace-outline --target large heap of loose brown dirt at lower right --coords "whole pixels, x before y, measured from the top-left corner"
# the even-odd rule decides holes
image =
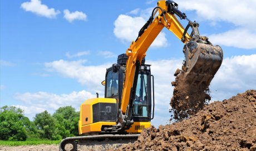
[[[256,150],[256,90],[206,105],[182,122],[151,126],[118,150]]]

